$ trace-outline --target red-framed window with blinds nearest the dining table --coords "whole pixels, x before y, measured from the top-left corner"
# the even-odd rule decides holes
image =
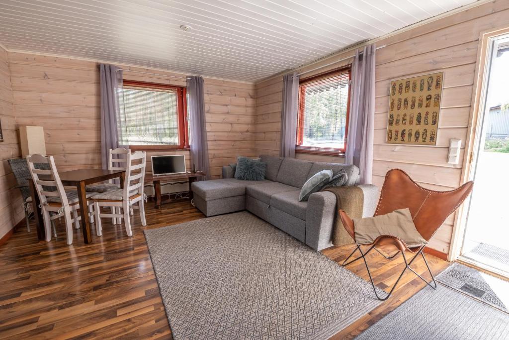
[[[189,147],[185,88],[124,81],[121,92],[121,145],[132,149]]]

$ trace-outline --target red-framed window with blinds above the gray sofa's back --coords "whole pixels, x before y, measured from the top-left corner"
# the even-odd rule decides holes
[[[341,154],[346,149],[351,67],[299,84],[296,151]]]

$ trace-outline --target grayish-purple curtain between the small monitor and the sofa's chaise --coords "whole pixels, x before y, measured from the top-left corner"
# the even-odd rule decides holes
[[[210,178],[209,147],[207,144],[207,129],[205,125],[205,98],[203,94],[203,77],[187,77],[187,106],[190,121],[189,141],[191,148],[191,162],[196,170],[204,171]],[[191,164],[191,168],[192,168]],[[201,177],[203,179],[203,177]]]

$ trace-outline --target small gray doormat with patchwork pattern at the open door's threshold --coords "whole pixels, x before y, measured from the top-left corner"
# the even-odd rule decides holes
[[[495,280],[498,280],[494,278]],[[486,282],[483,275],[470,267],[454,263],[452,266],[440,273],[436,280],[451,289],[487,303],[492,307],[498,308],[505,313],[509,313],[507,306],[500,300],[497,294]],[[509,289],[509,282],[507,282]]]

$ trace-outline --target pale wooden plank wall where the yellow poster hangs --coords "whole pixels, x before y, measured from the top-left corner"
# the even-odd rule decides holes
[[[449,139],[459,138],[463,147],[467,138],[470,103],[480,32],[509,25],[509,2],[493,1],[377,42],[386,47],[376,54],[376,103],[373,183],[380,186],[387,170],[401,168],[421,185],[449,190],[460,185],[460,164],[446,162]],[[352,52],[338,53],[320,63],[304,66],[300,71],[341,60]],[[350,60],[324,67],[306,76],[350,63]],[[436,146],[385,144],[389,84],[419,73],[444,71],[439,132]],[[281,109],[282,77],[257,84],[258,153],[277,153]],[[454,218],[449,218],[431,241],[431,247],[447,253]]]

